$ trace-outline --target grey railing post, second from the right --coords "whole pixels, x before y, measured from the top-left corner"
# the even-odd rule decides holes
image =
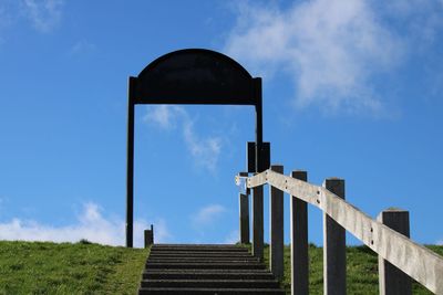
[[[323,187],[344,199],[343,179],[328,178]],[[346,231],[327,213],[323,213],[323,281],[324,295],[346,294]]]

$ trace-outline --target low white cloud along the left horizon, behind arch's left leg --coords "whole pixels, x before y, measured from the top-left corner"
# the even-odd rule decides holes
[[[143,232],[148,228],[145,220],[134,222],[135,246],[144,245]],[[171,240],[164,220],[154,222],[154,235],[158,243]],[[75,224],[52,226],[18,218],[0,223],[0,240],[78,242],[81,239],[101,244],[124,245],[125,223],[120,219],[105,218],[100,207],[92,202],[84,204]]]

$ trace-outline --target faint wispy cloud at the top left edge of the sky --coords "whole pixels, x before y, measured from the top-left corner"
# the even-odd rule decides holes
[[[62,17],[63,0],[22,0],[25,15],[39,32],[50,32]]]

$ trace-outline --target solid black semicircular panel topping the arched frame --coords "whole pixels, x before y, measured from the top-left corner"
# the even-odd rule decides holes
[[[256,105],[255,80],[227,55],[186,49],[150,63],[132,78],[130,93],[137,104]]]

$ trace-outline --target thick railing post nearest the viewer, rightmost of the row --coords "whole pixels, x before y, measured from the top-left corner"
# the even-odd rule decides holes
[[[377,218],[381,223],[409,238],[409,212],[388,209]],[[393,246],[393,245],[392,245]],[[379,255],[379,287],[381,295],[411,295],[411,278]]]

